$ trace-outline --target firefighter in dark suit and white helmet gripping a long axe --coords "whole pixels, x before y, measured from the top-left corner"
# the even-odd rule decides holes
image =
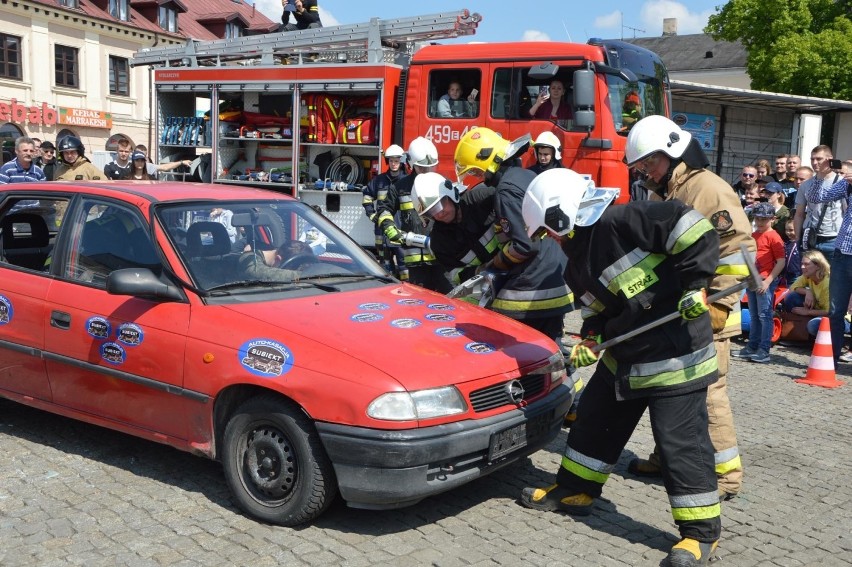
[[[591,512],[647,408],[663,461],[663,483],[681,540],[673,566],[706,565],[721,532],[721,504],[707,429],[707,386],[716,353],[706,286],[719,258],[710,222],[679,201],[609,207],[615,195],[570,169],[546,171],[524,196],[531,236],[547,234],[568,256],[565,277],[582,300],[575,368],[597,361],[592,347],[672,312],[653,332],[604,351],[583,392],[556,483],[525,488],[528,508]]]

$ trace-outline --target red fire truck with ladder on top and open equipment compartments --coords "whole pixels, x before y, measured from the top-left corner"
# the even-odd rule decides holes
[[[508,139],[550,131],[566,167],[621,188],[626,201],[629,128],[670,114],[660,58],[616,40],[434,44],[474,35],[481,20],[459,10],[190,40],[142,49],[131,63],[154,68],[159,158],[195,158],[204,181],[290,193],[364,247],[373,227],[360,189],[383,170],[383,148],[407,148],[417,136],[435,143],[439,172],[455,180],[455,147],[469,129]],[[533,118],[553,80],[565,86],[571,118]],[[438,103],[451,83],[465,111],[446,116]],[[525,165],[533,160],[530,152]]]

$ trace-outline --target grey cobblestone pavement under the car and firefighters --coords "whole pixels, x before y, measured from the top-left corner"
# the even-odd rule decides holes
[[[793,382],[809,356],[776,347],[770,364],[732,363],[746,478],[723,504],[713,565],[852,565],[852,380]],[[582,519],[516,503],[524,486],[552,482],[564,443],[562,432],[530,459],[410,508],[337,502],[289,529],[241,515],[215,462],[0,400],[0,565],[662,565],[677,533],[665,492],[626,472],[652,448],[647,416]]]

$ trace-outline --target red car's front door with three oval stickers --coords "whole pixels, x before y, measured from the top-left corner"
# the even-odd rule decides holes
[[[135,206],[100,197],[83,197],[67,216],[47,295],[54,402],[119,428],[186,439],[187,405],[199,398],[182,389],[189,305],[106,291],[116,269],[167,277],[147,221]]]

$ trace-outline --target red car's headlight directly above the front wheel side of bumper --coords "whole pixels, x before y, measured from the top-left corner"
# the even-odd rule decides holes
[[[467,411],[464,398],[454,386],[418,390],[416,392],[389,392],[370,403],[367,415],[373,419],[412,421],[444,417]]]

